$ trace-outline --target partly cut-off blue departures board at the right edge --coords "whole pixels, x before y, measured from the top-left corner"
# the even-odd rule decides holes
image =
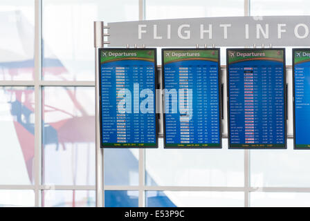
[[[293,49],[294,148],[310,149],[310,49]]]

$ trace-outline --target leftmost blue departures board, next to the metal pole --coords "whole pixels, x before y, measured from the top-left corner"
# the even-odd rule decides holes
[[[156,148],[156,49],[102,48],[101,147]]]

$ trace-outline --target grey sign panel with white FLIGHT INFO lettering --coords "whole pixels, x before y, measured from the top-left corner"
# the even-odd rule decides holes
[[[166,19],[108,26],[111,47],[310,46],[310,16]]]

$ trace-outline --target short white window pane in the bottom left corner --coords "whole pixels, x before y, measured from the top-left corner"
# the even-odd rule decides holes
[[[0,190],[0,207],[35,206],[33,190]]]

